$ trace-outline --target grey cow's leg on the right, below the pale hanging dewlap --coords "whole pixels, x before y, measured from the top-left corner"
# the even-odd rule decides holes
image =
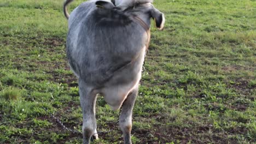
[[[127,95],[127,98],[122,105],[121,114],[119,116],[119,125],[120,125],[121,131],[123,132],[125,144],[131,143],[132,110],[135,104],[137,94],[138,94],[138,84],[131,91],[131,93]]]

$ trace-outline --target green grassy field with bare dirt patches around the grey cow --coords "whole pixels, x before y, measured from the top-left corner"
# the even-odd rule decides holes
[[[75,1],[69,9],[82,1]],[[0,2],[0,143],[81,143],[78,84],[65,56],[62,0]],[[133,110],[133,143],[256,142],[256,1],[155,0],[152,41]],[[70,10],[69,10],[70,11]],[[102,97],[100,140],[121,143]]]

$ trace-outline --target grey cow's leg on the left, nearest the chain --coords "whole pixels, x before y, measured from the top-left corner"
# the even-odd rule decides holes
[[[87,86],[81,79],[79,79],[79,95],[83,111],[83,143],[88,144],[90,143],[91,136],[95,134],[97,127],[95,118],[95,104],[97,96],[93,91],[93,88]]]

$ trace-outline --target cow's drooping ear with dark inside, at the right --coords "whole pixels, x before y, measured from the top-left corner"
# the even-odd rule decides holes
[[[164,24],[165,24],[165,15],[154,7],[150,10],[150,14],[151,14],[151,17],[153,17],[153,19],[155,21],[155,26],[158,29],[162,30],[164,28]]]

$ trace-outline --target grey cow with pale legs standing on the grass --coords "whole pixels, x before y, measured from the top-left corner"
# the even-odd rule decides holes
[[[83,143],[97,137],[97,94],[113,109],[122,106],[119,125],[124,143],[131,143],[132,109],[138,93],[144,56],[150,40],[150,18],[164,27],[164,14],[152,0],[87,1],[68,19],[67,58],[78,77],[83,110]]]

